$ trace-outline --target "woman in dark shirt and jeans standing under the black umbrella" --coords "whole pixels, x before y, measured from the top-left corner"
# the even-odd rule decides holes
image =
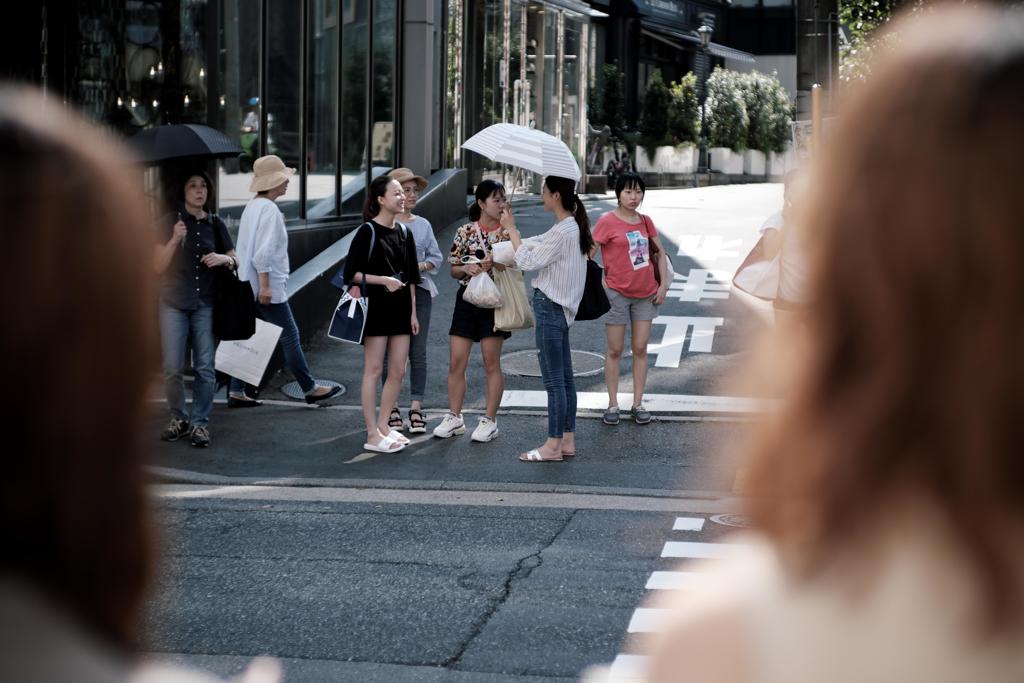
[[[213,268],[238,267],[234,245],[224,222],[210,212],[215,205],[213,183],[202,172],[185,179],[177,194],[177,211],[164,221],[165,237],[157,247],[160,291],[160,336],[164,381],[171,421],[161,433],[165,441],[188,435],[198,447],[210,445],[210,411],[216,390],[213,369]],[[191,342],[191,413],[186,412],[182,373],[185,348]]]

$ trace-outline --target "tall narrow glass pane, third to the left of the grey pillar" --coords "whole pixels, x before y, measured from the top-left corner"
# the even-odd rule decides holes
[[[308,26],[306,216],[321,218],[338,213],[338,0],[310,0]]]

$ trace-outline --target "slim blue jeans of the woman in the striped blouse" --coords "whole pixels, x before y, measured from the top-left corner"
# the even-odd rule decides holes
[[[569,326],[562,307],[541,290],[534,290],[534,315],[537,317],[541,376],[548,391],[548,436],[561,438],[565,432],[575,432],[575,380],[572,379]]]

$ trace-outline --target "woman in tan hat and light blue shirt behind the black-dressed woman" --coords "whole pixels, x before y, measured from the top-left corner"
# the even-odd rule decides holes
[[[416,317],[420,322],[420,334],[413,336],[409,346],[409,365],[412,368],[410,373],[412,398],[409,408],[409,431],[414,434],[422,434],[427,431],[427,422],[423,419],[423,394],[427,387],[427,334],[430,331],[430,309],[433,297],[437,296],[437,285],[434,284],[430,273],[435,272],[441,265],[441,250],[437,246],[437,239],[434,237],[434,228],[430,221],[423,216],[413,214],[420,193],[427,186],[426,178],[414,174],[408,168],[396,168],[388,173],[388,176],[397,180],[406,194],[406,211],[399,213],[397,219],[413,233],[413,240],[416,242],[416,262],[420,269],[418,287],[422,291],[416,297]],[[384,356],[383,381],[387,382],[386,355]],[[403,426],[401,411],[398,410],[397,404],[391,409],[387,423],[391,429],[401,431]]]

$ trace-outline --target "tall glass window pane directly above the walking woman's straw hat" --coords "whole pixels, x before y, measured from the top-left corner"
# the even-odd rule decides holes
[[[302,15],[295,11],[293,0],[267,0],[267,17],[273,27],[267,41],[267,154],[278,155],[299,171],[278,200],[286,218],[297,218],[302,182]]]

